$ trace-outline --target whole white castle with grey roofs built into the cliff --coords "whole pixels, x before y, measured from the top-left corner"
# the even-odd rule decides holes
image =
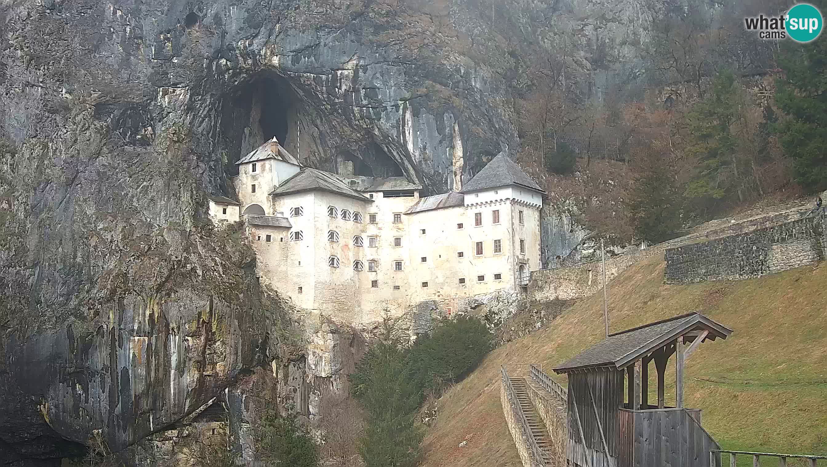
[[[427,198],[404,177],[302,167],[275,138],[237,165],[238,200],[210,197],[210,217],[245,222],[261,283],[308,312],[361,326],[422,304],[451,313],[540,267],[543,190],[505,155]]]

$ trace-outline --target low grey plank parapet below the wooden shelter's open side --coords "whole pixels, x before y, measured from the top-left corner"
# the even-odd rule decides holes
[[[634,467],[710,467],[710,450],[720,449],[685,410],[628,413],[634,417]]]

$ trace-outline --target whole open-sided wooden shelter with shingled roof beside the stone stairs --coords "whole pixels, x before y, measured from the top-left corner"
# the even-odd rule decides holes
[[[554,368],[568,376],[570,465],[710,467],[710,450],[720,447],[700,426],[700,409],[683,406],[684,362],[701,342],[726,339],[731,333],[700,313],[690,313],[611,334]],[[676,403],[667,407],[664,375],[672,355]],[[657,401],[652,403],[651,362],[657,371]]]

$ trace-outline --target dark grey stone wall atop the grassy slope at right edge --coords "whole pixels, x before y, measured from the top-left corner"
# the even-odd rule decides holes
[[[741,235],[666,251],[665,282],[749,279],[824,260],[827,216],[814,213]]]

